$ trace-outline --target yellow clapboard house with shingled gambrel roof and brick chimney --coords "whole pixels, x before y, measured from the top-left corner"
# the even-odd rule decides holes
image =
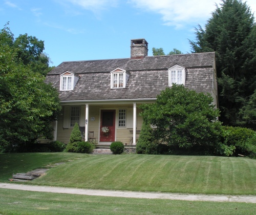
[[[93,132],[100,145],[117,140],[136,145],[142,125],[138,106],[155,102],[160,91],[174,82],[210,93],[218,106],[214,52],[166,56],[147,52],[145,39],[132,39],[130,58],[62,62],[49,72],[46,81],[58,89],[62,105],[53,125],[54,139],[68,143],[77,122],[85,140]]]

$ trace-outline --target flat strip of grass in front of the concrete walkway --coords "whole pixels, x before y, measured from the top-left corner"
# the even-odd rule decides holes
[[[253,214],[256,204],[97,197],[0,189],[0,214]]]

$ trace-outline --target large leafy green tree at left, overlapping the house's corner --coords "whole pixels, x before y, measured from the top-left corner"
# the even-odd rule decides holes
[[[17,60],[12,33],[0,31],[0,145],[2,148],[52,139],[52,121],[61,106],[58,93],[45,77]]]

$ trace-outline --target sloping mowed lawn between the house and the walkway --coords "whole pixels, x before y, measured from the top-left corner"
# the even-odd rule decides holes
[[[49,163],[29,184],[155,192],[256,195],[256,160],[212,156],[0,154],[0,181]]]

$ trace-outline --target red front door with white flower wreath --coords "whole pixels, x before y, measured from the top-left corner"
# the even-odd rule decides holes
[[[100,142],[115,141],[115,116],[116,110],[101,110],[99,139]]]

